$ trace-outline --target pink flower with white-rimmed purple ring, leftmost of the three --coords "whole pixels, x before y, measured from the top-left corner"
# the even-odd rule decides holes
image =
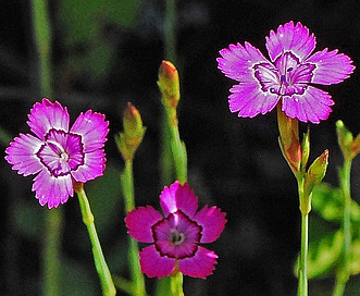
[[[33,192],[49,209],[74,195],[74,183],[102,175],[103,145],[109,132],[104,115],[88,110],[71,128],[67,109],[44,98],[30,110],[27,122],[35,134],[20,134],[7,148],[5,159],[24,176],[37,174]]]

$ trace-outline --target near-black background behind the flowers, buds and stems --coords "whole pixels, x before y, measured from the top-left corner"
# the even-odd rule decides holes
[[[84,3],[74,7],[77,12],[72,16],[71,1],[50,1],[53,88],[54,99],[67,107],[73,120],[80,111],[92,109],[103,112],[110,121],[107,176],[102,183],[89,182],[85,188],[94,211],[100,215],[96,222],[111,270],[126,276],[122,251],[127,236],[117,182],[123,162],[113,136],[122,130],[122,113],[127,101],[132,101],[148,127],[135,159],[136,203],[156,206],[161,190],[161,103],[157,78],[164,59],[164,1],[129,1],[135,3],[135,12],[131,16],[128,12],[115,15],[117,18],[116,7],[111,5],[112,1],[104,2],[110,3],[110,10],[99,8],[92,18],[82,18],[74,15],[87,14]],[[28,133],[26,114],[41,99],[30,12],[28,1],[0,4],[0,125],[11,136]],[[358,65],[360,4],[356,0],[188,0],[178,1],[177,17],[176,66],[182,88],[178,115],[188,151],[188,181],[201,206],[216,205],[228,219],[220,239],[208,246],[219,255],[214,274],[207,281],[186,278],[185,292],[214,296],[296,295],[293,264],[299,249],[300,217],[296,181],[277,146],[276,114],[255,119],[232,114],[227,96],[234,82],[216,69],[215,59],[228,44],[244,41],[266,55],[264,38],[270,29],[293,20],[315,34],[315,50],[339,49]],[[322,87],[333,95],[336,104],[327,121],[311,125],[310,159],[330,149],[325,181],[334,185],[342,163],[335,122],[342,119],[353,134],[360,132],[358,82],[356,70],[345,83]],[[356,160],[355,199],[360,197],[359,180]],[[105,181],[110,189],[102,187]],[[47,209],[34,198],[32,177],[18,176],[3,158],[0,183],[1,295],[39,295],[41,217]],[[109,201],[112,197],[114,201]],[[77,285],[89,289],[84,295],[91,295],[91,291],[99,295],[77,200],[70,198],[61,207],[65,212],[64,262],[79,276]],[[101,215],[101,207],[107,208],[105,214]],[[311,213],[311,219],[316,215]],[[332,279],[311,281],[310,295],[331,295]],[[153,285],[153,281],[148,283],[149,287]],[[351,278],[346,295],[359,295],[358,288],[359,279]]]

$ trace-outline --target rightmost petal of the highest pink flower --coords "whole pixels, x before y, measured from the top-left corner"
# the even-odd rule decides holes
[[[337,53],[337,49],[327,51],[325,48],[312,54],[308,63],[314,63],[312,83],[314,84],[337,84],[348,78],[355,70],[351,59],[344,54]]]

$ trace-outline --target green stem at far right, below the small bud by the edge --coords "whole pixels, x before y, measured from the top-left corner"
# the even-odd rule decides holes
[[[336,274],[336,282],[333,295],[344,295],[346,283],[350,279],[350,248],[351,248],[351,193],[350,193],[350,172],[352,159],[345,158],[344,166],[339,170],[340,188],[344,198],[344,213],[343,213],[343,232],[344,232],[344,247],[343,247],[343,266]]]

